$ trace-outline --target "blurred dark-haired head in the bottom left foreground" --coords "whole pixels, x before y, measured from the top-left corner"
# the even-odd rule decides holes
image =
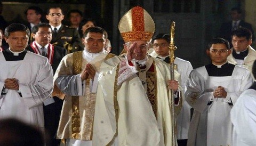
[[[8,118],[0,121],[0,145],[44,145],[43,133],[23,121]]]

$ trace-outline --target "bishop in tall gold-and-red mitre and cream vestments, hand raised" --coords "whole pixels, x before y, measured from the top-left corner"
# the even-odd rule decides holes
[[[131,22],[134,25],[127,25]],[[175,80],[170,80],[170,66],[147,55],[154,21],[142,7],[135,6],[121,19],[119,30],[127,53],[102,62],[93,145],[175,145],[169,89],[178,91],[177,99],[182,99],[180,75],[174,71]],[[177,107],[181,108],[181,103],[178,100]]]

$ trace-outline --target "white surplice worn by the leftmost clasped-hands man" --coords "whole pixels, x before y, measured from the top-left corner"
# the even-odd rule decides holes
[[[27,52],[19,61],[6,61],[0,52],[0,89],[6,78],[16,78],[17,90],[7,90],[0,98],[0,119],[17,118],[44,129],[43,101],[50,98],[53,70],[47,58]]]

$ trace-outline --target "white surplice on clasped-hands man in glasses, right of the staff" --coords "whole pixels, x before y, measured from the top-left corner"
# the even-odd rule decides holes
[[[232,76],[209,76],[205,67],[191,71],[186,84],[186,100],[194,108],[188,132],[188,145],[231,145],[230,110],[239,95],[253,83],[249,70],[235,66]],[[213,91],[222,86],[226,98],[214,98]],[[207,106],[209,102],[210,106]]]

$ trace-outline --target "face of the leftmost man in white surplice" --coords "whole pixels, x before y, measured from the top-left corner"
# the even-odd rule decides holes
[[[26,31],[15,31],[10,33],[9,37],[5,37],[6,42],[13,52],[23,51],[28,45],[28,35]]]

